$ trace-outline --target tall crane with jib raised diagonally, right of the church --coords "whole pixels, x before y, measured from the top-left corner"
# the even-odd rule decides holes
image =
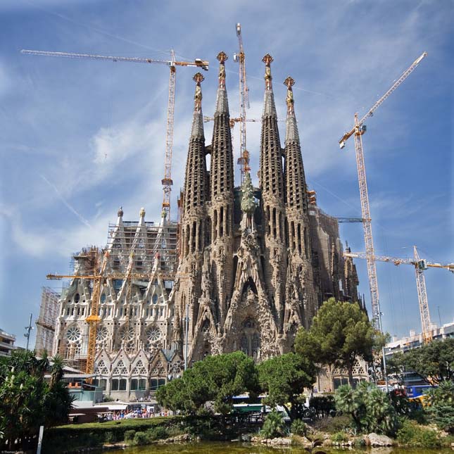
[[[366,248],[366,261],[367,261],[367,275],[369,277],[370,286],[370,297],[372,304],[372,322],[375,327],[382,331],[381,314],[380,314],[380,303],[379,303],[379,289],[377,283],[377,269],[374,262],[374,241],[372,239],[372,221],[370,217],[370,206],[369,196],[367,194],[367,180],[366,170],[364,162],[364,154],[362,152],[362,134],[366,132],[366,126],[364,122],[367,118],[374,115],[374,112],[382,105],[385,99],[387,99],[391,93],[393,93],[399,85],[411,74],[413,70],[419,65],[422,59],[427,56],[427,52],[422,53],[411,65],[410,68],[405,70],[401,77],[394,82],[392,87],[370,108],[361,120],[358,120],[358,113],[355,113],[355,121],[353,128],[343,134],[339,140],[339,146],[343,149],[346,146],[346,141],[351,137],[355,136],[355,152],[356,152],[356,166],[358,169],[358,183],[360,187],[360,201],[361,201],[361,213],[362,213],[362,226],[364,227],[364,241]]]

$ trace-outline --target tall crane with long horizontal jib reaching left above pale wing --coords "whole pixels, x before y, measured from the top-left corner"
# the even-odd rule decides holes
[[[22,49],[22,53],[30,55],[48,56],[48,57],[63,57],[63,58],[88,58],[89,60],[105,60],[125,63],[158,63],[167,65],[170,68],[169,75],[169,99],[167,107],[167,128],[165,133],[165,160],[164,160],[164,178],[163,184],[163,220],[170,220],[170,191],[172,190],[172,146],[173,146],[173,124],[175,111],[175,84],[177,82],[177,66],[198,67],[203,70],[208,70],[208,61],[203,61],[201,58],[196,58],[194,61],[175,61],[175,52],[170,51],[170,60],[156,60],[154,58],[137,58],[137,57],[118,57],[94,55],[90,53],[68,53],[68,52],[49,52],[49,51],[33,51]]]

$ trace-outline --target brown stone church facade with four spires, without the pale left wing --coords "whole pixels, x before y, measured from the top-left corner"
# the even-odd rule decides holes
[[[210,146],[203,132],[202,77],[194,77],[182,203],[182,277],[171,298],[172,345],[176,351],[187,348],[189,360],[236,350],[263,360],[290,351],[298,327],[310,326],[327,296],[358,301],[358,277],[354,265],[342,258],[336,220],[308,201],[291,77],[284,81],[287,115],[281,146],[268,54],[263,58],[258,187],[248,172],[241,187],[234,187],[225,53],[217,58],[219,87]]]

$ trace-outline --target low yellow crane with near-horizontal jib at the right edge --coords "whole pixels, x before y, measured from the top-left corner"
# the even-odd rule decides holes
[[[351,258],[365,258],[367,260],[367,254],[361,252],[344,252],[343,256]],[[454,263],[441,264],[428,262],[424,258],[420,258],[416,246],[413,246],[413,258],[374,256],[374,260],[378,260],[379,262],[391,262],[394,265],[412,265],[415,267],[417,296],[420,304],[422,339],[424,340],[424,343],[430,342],[432,340],[432,329],[424,270],[427,270],[427,268],[444,268],[445,270],[454,272]]]

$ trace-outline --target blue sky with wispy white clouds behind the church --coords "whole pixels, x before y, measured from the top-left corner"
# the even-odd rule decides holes
[[[168,68],[25,56],[20,49],[118,56],[203,58],[212,65],[203,113],[213,115],[217,61],[227,61],[232,115],[238,115],[235,24],[241,22],[250,89],[249,118],[260,118],[263,63],[272,74],[278,115],[287,75],[294,97],[310,189],[332,215],[360,216],[353,141],[339,137],[410,63],[420,67],[367,122],[363,137],[377,253],[454,262],[453,3],[449,0],[77,1],[0,3],[0,327],[25,345],[23,327],[39,313],[49,272],[68,272],[70,254],[106,244],[108,222],[158,220],[162,192]],[[183,184],[191,126],[193,68],[177,71],[174,189]],[[260,124],[248,125],[253,174]],[[207,144],[211,125],[206,124]],[[239,149],[239,130],[234,131]],[[281,127],[284,139],[284,124]],[[236,172],[238,181],[238,172]],[[172,197],[175,218],[176,194]],[[362,227],[341,237],[363,251]],[[367,271],[356,261],[370,303]],[[384,329],[420,327],[414,270],[377,263]],[[426,272],[431,318],[454,320],[454,279]],[[34,345],[34,339],[32,339]]]

